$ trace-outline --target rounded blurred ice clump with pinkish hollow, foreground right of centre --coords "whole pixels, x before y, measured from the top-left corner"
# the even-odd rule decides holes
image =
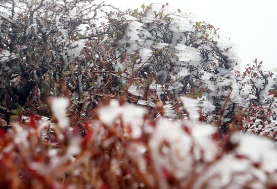
[[[160,187],[164,188],[167,185],[162,179],[162,167],[167,168],[178,178],[187,176],[191,171],[192,157],[189,156],[191,145],[192,141],[181,129],[180,123],[162,118],[158,120],[149,147],[161,181]]]

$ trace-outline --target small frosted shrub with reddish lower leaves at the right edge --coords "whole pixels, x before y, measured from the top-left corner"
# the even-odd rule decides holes
[[[243,73],[236,73],[237,80],[242,83],[241,89],[250,86],[250,103],[248,107],[241,108],[238,112],[240,118],[233,119],[231,127],[277,141],[277,91],[274,89],[274,73],[266,70],[257,59],[253,62]]]

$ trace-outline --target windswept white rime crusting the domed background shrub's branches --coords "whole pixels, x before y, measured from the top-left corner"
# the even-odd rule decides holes
[[[199,22],[194,14],[180,12],[168,5],[162,8],[162,4],[154,3],[150,10],[145,11],[145,14],[144,16],[140,14],[120,16],[129,25],[119,44],[126,47],[121,51],[127,50],[130,56],[139,53],[141,63],[145,63],[150,57],[142,67],[140,63],[135,64],[134,68],[135,71],[140,68],[139,71],[143,71],[146,77],[155,74],[157,79],[154,79],[150,86],[154,91],[157,90],[155,94],[160,98],[170,94],[177,97],[190,93],[191,88],[198,86],[198,90],[206,96],[201,98],[200,103],[204,114],[218,111],[224,104],[224,101],[219,100],[226,98],[231,90],[233,93],[229,104],[235,104],[234,111],[239,104],[247,105],[247,99],[243,96],[251,97],[247,91],[249,88],[241,89],[241,83],[237,83],[232,76],[238,69],[239,65],[235,64],[239,62],[239,58],[236,53],[237,47],[230,42],[229,38],[214,34],[214,30],[208,29],[208,24]],[[115,15],[111,15],[111,18],[121,20]],[[196,21],[201,27],[206,28],[197,29]],[[215,47],[218,47],[218,52]],[[207,54],[203,55],[203,53]],[[226,56],[226,62],[220,62],[222,57],[218,53]],[[173,69],[172,65],[174,65]],[[120,66],[116,64],[113,67],[118,70]],[[125,68],[122,67],[121,70],[123,69]],[[167,86],[169,81],[172,84]],[[161,86],[155,88],[157,83]],[[166,88],[168,94],[164,94],[163,88]],[[144,94],[143,86],[131,85],[128,93],[141,97]],[[152,97],[154,96],[150,96]],[[165,114],[170,118],[176,118],[176,112],[171,104],[164,105]],[[209,116],[208,120],[211,118]]]

